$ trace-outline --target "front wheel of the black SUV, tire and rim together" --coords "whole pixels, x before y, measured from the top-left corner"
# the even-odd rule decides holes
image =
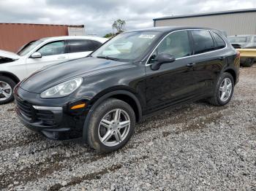
[[[115,116],[120,116],[120,119],[116,119]],[[132,107],[124,101],[108,98],[91,114],[87,140],[90,147],[97,152],[113,152],[127,144],[134,129],[135,112]]]

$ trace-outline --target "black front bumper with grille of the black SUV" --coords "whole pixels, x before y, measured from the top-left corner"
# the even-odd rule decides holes
[[[85,100],[69,101],[68,98],[39,98],[20,87],[14,90],[16,113],[27,128],[41,133],[48,139],[79,139],[83,136],[83,124],[88,109],[76,109],[71,106]]]

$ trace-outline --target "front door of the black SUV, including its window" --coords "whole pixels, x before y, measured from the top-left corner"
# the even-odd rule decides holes
[[[157,71],[151,64],[159,53],[174,55],[176,61],[164,63]],[[192,54],[188,31],[168,34],[146,64],[146,100],[148,112],[195,98],[195,77],[189,55]]]

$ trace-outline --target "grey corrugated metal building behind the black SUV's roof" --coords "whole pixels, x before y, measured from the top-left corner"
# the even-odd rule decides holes
[[[154,26],[203,26],[226,31],[227,35],[256,34],[256,9],[239,9],[155,18]]]

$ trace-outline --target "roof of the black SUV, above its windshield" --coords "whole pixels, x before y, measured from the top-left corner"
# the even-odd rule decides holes
[[[137,31],[158,31],[158,32],[168,32],[168,31],[177,31],[184,29],[206,29],[206,30],[214,30],[220,31],[214,28],[206,28],[206,27],[194,27],[194,26],[160,26],[160,27],[151,27],[151,28],[143,28],[138,30],[132,30],[127,32],[137,32]]]

